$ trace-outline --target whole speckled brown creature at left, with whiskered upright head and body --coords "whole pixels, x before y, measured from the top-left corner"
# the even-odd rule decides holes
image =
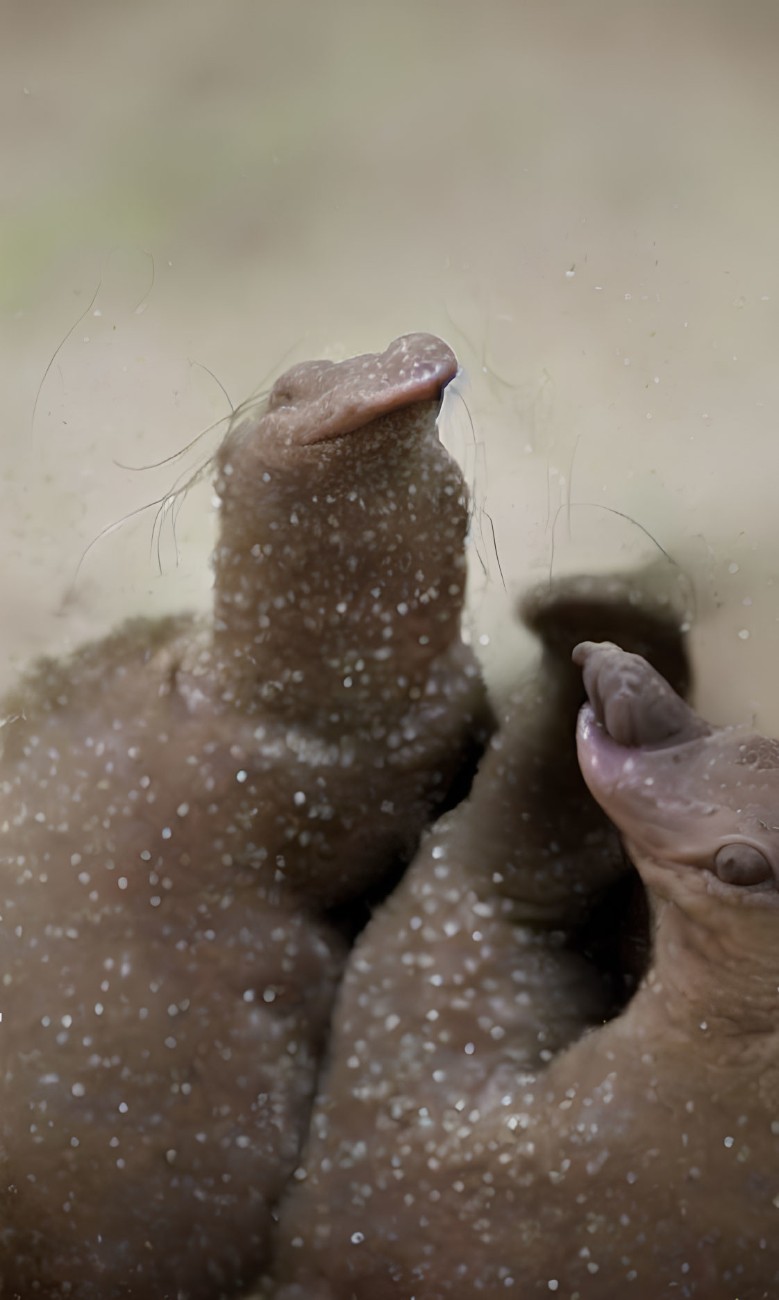
[[[449,348],[296,367],[217,456],[214,618],[0,711],[3,1296],[229,1296],[266,1262],[345,945],[483,738]]]

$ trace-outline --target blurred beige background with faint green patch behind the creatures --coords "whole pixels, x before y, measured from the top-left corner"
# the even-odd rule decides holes
[[[493,685],[523,585],[661,546],[700,706],[778,732],[778,42],[770,0],[5,0],[1,680],[208,602],[208,481],[142,507],[223,425],[122,467],[428,329]]]

